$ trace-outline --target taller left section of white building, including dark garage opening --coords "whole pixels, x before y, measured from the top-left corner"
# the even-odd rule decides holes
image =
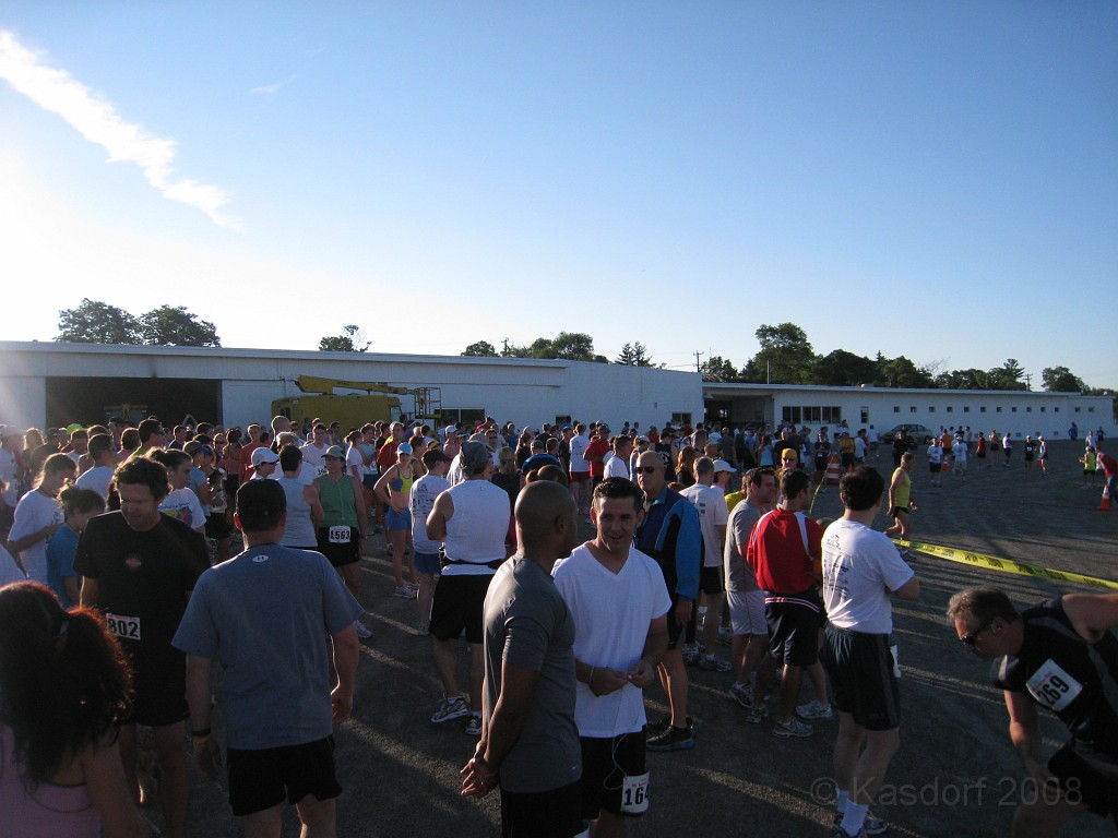
[[[0,422],[105,421],[142,406],[164,423],[186,415],[226,426],[268,421],[272,401],[314,375],[425,388],[447,421],[493,416],[518,426],[604,420],[642,427],[702,419],[695,373],[581,361],[354,352],[0,341]],[[340,388],[339,393],[356,393]],[[406,416],[414,400],[400,396]],[[129,411],[124,411],[129,412]],[[421,412],[421,411],[420,411]],[[329,421],[329,417],[323,416]]]

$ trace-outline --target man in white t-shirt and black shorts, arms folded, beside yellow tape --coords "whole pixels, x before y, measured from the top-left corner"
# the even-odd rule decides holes
[[[915,600],[920,580],[883,533],[872,528],[885,483],[860,466],[843,475],[845,512],[823,534],[823,601],[827,625],[822,660],[839,708],[834,771],[839,809],[834,835],[877,835],[884,823],[870,803],[900,749],[900,691],[890,650],[890,596]],[[864,831],[863,831],[864,828]]]

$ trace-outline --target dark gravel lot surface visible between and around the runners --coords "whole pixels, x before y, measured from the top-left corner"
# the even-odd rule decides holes
[[[1097,511],[1101,484],[1080,488],[1080,442],[1052,442],[1050,454],[1048,477],[1026,472],[1020,459],[1011,468],[977,469],[972,464],[965,480],[945,475],[938,489],[928,487],[921,457],[913,475],[916,537],[1118,579],[1118,511]],[[888,480],[892,460],[884,448],[881,457],[870,465],[879,465]],[[839,514],[837,493],[828,487],[817,496],[813,515]],[[457,794],[457,771],[474,740],[457,723],[429,723],[442,697],[429,642],[414,631],[415,603],[391,596],[390,563],[382,547],[380,539],[373,540],[362,562],[366,621],[375,636],[362,644],[353,718],[337,732],[339,777],[345,787],[339,799],[339,835],[500,835],[496,794],[481,801]],[[961,650],[944,609],[951,593],[977,583],[1002,587],[1021,604],[1091,589],[925,555],[916,556],[913,566],[921,579],[920,601],[894,603],[903,668],[902,745],[874,812],[889,821],[894,836],[1008,835],[1016,801],[1036,790],[1023,782],[1001,695],[987,686],[988,665]],[[776,739],[770,725],[746,724],[745,711],[727,693],[730,675],[697,668],[690,673],[697,745],[688,752],[648,755],[652,804],[628,834],[826,835],[827,777],[837,723],[815,723],[816,732],[807,740]],[[650,716],[661,714],[663,694],[650,691],[646,705]],[[1062,725],[1051,717],[1044,718],[1044,731],[1048,747],[1065,739]],[[192,766],[191,772],[190,835],[240,835],[224,790]],[[158,822],[157,811],[149,812]],[[284,835],[297,834],[297,822],[288,816]],[[1088,819],[1064,835],[1112,831]]]

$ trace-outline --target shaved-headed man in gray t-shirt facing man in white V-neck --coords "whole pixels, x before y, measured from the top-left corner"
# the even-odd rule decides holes
[[[482,736],[462,793],[501,789],[508,838],[570,838],[582,831],[582,775],[575,726],[575,620],[551,579],[578,539],[570,493],[547,480],[517,501],[521,553],[485,596]]]

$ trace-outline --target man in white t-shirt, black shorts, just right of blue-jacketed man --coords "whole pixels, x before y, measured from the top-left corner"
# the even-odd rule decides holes
[[[726,495],[714,487],[714,460],[700,457],[695,460],[695,484],[680,492],[699,512],[699,528],[702,531],[703,560],[699,575],[699,590],[707,606],[703,620],[703,646],[707,653],[699,659],[699,668],[711,672],[730,672],[730,661],[714,655],[718,640],[718,623],[722,615],[722,551],[726,545],[726,523],[730,510]],[[684,650],[686,656],[686,650]]]

